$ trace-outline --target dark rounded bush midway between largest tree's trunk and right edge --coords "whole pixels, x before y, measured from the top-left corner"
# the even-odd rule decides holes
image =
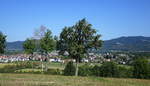
[[[118,67],[114,62],[105,62],[100,67],[100,75],[102,77],[118,77]]]

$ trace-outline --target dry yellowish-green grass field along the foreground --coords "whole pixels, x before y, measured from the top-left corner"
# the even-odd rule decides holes
[[[42,74],[0,74],[0,86],[150,86],[150,80]]]

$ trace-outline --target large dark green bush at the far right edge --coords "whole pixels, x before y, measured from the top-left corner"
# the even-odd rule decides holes
[[[147,59],[139,58],[133,63],[133,77],[147,79],[149,77],[149,63]]]

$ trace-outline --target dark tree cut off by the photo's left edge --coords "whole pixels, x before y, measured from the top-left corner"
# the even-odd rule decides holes
[[[3,54],[5,52],[6,47],[6,36],[0,32],[0,54]]]

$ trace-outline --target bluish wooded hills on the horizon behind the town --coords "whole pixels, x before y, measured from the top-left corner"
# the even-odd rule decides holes
[[[7,42],[7,50],[23,50],[23,42]],[[150,37],[128,36],[106,40],[101,51],[150,51]]]

